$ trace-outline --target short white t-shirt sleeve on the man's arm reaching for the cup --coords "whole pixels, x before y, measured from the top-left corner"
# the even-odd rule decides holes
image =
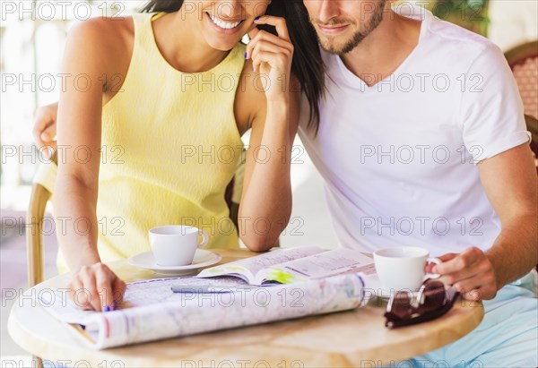
[[[486,47],[465,80],[459,117],[465,147],[475,162],[530,141],[523,102],[499,47]]]

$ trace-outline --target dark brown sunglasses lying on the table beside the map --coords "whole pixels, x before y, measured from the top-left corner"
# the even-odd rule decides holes
[[[389,329],[434,320],[446,314],[459,295],[453,287],[436,280],[426,280],[417,292],[393,293],[386,305],[385,326]]]

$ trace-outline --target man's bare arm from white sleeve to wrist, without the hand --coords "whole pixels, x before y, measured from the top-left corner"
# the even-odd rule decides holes
[[[482,185],[501,222],[488,258],[498,288],[525,276],[538,263],[538,183],[528,144],[479,165]]]

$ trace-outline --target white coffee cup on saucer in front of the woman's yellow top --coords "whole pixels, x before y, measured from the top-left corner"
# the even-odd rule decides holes
[[[202,243],[199,242],[203,236]],[[209,241],[204,230],[197,227],[171,225],[150,229],[150,244],[155,262],[159,266],[187,266],[195,258],[197,248]]]

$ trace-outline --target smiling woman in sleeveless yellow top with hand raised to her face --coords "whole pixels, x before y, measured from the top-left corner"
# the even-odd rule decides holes
[[[121,300],[125,283],[101,261],[146,251],[151,227],[212,224],[211,247],[237,246],[224,189],[249,129],[239,234],[260,252],[287,225],[299,90],[315,124],[323,71],[309,57],[319,52],[315,38],[293,55],[290,33],[297,39],[308,24],[289,33],[283,18],[263,16],[293,14],[298,3],[269,3],[153,0],[145,11],[158,14],[94,19],[70,32],[63,73],[85,83],[60,97],[54,206],[66,224],[58,240],[71,294],[91,293],[80,306]],[[264,24],[277,34],[256,29]],[[259,219],[269,226],[260,230]]]

